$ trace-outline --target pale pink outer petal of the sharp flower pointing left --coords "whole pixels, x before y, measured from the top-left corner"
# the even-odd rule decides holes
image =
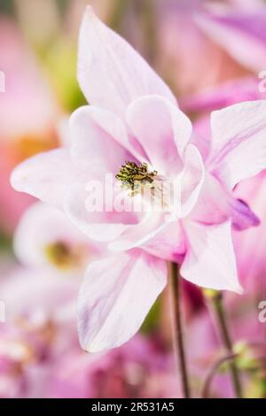
[[[11,183],[14,189],[61,208],[67,186],[83,179],[72,166],[69,152],[56,149],[22,162],[13,170]]]

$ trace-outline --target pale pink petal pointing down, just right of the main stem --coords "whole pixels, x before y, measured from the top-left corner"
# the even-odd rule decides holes
[[[187,252],[181,275],[204,288],[242,293],[231,242],[231,221],[217,226],[186,221],[184,230]]]

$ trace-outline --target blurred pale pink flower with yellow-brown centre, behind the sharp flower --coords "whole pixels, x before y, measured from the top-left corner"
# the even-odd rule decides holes
[[[63,212],[40,202],[22,215],[13,247],[22,265],[62,276],[81,274],[100,250]]]

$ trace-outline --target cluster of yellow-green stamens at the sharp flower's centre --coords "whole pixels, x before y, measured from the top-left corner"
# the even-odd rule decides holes
[[[124,189],[130,189],[131,196],[136,195],[145,187],[152,188],[156,176],[157,171],[149,172],[146,163],[137,166],[135,162],[129,161],[126,161],[119,173],[115,175]]]

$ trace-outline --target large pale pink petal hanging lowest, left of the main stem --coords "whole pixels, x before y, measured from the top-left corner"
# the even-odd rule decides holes
[[[141,327],[166,281],[165,262],[141,250],[92,263],[78,298],[82,348],[97,352],[126,343]]]

